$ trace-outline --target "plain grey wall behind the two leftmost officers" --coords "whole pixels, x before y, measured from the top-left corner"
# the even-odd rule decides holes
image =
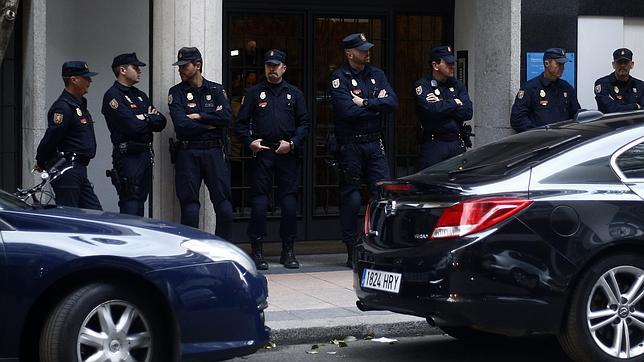
[[[66,60],[87,61],[90,70],[99,73],[85,95],[95,122],[98,144],[96,158],[90,163],[88,172],[103,209],[108,211],[118,211],[118,196],[105,177],[105,170],[112,168],[112,144],[101,114],[101,102],[115,79],[110,68],[115,55],[135,51],[141,61],[150,64],[149,14],[147,1],[47,1],[47,107],[63,90],[60,72]],[[147,93],[147,67],[142,69],[141,83],[137,87]],[[46,110],[39,116],[39,122],[46,127]]]

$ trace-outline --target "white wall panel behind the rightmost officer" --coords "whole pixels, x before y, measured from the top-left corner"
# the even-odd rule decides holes
[[[644,79],[644,19],[580,16],[577,30],[577,97],[582,108],[597,109],[595,80],[613,72],[611,63],[617,48],[633,51],[635,68],[631,75]]]

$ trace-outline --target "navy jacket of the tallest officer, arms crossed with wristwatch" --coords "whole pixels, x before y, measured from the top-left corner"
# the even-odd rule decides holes
[[[378,98],[383,89],[387,96]],[[368,105],[361,107],[353,103],[352,93],[366,99]],[[335,133],[341,136],[381,132],[381,114],[393,112],[398,107],[398,96],[385,73],[369,64],[361,72],[346,63],[336,69],[331,75],[330,94]]]

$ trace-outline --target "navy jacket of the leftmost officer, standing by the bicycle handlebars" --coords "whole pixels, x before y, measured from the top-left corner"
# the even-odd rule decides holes
[[[47,112],[47,131],[36,151],[37,164],[43,167],[56,152],[74,152],[88,158],[96,155],[94,121],[87,110],[87,99],[76,98],[66,90]]]

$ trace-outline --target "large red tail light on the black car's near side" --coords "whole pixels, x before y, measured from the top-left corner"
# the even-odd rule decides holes
[[[532,204],[530,199],[486,197],[459,202],[443,210],[430,239],[473,234],[509,219]]]

